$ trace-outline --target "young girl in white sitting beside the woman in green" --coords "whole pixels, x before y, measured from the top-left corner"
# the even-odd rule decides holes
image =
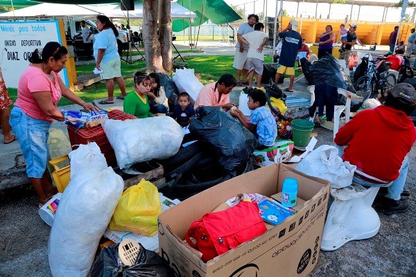
[[[166,114],[169,111],[168,98],[164,87],[160,86],[159,75],[150,73],[149,78],[151,81],[150,93],[148,94],[150,111],[153,114]]]

